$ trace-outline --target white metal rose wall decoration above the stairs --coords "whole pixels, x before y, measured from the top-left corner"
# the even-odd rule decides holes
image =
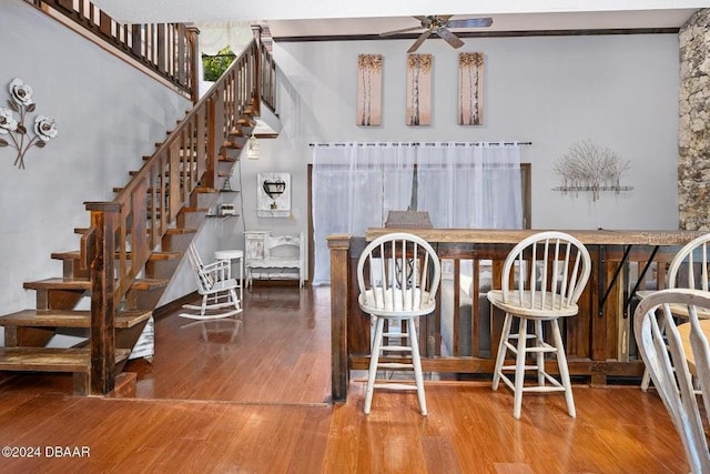
[[[32,147],[44,148],[57,137],[57,123],[51,117],[38,115],[31,130],[24,124],[27,114],[34,112],[32,88],[21,79],[13,79],[8,85],[10,91],[9,107],[0,107],[0,148],[11,147],[18,151],[14,165],[24,168],[24,153]],[[16,119],[16,113],[20,119]],[[33,132],[33,137],[30,135]],[[9,140],[8,140],[9,139]]]

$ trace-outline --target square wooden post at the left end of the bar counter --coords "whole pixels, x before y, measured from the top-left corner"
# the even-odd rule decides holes
[[[331,399],[345,402],[349,382],[347,290],[351,236],[334,234],[328,235],[327,241],[331,249]]]

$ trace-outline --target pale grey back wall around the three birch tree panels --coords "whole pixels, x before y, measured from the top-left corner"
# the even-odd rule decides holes
[[[535,229],[677,229],[678,38],[586,36],[466,39],[460,50],[442,40],[434,54],[430,127],[405,125],[405,64],[410,40],[276,43],[282,74],[278,113],[283,130],[262,140],[262,159],[243,162],[246,226],[306,231],[306,164],[312,142],[531,141]],[[485,54],[484,125],[456,121],[458,51]],[[359,53],[384,56],[383,125],[355,124]],[[562,195],[556,159],[575,142],[594,140],[630,161],[628,193]],[[293,173],[292,219],[257,219],[255,174]]]

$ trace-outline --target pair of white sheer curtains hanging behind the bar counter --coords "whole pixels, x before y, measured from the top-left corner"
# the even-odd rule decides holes
[[[313,284],[331,281],[331,234],[364,235],[407,209],[438,229],[521,229],[521,194],[515,143],[316,144]]]

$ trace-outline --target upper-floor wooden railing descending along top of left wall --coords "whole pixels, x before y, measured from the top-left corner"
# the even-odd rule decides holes
[[[183,23],[119,23],[84,0],[26,0],[91,32],[181,90],[199,97],[197,30]]]

